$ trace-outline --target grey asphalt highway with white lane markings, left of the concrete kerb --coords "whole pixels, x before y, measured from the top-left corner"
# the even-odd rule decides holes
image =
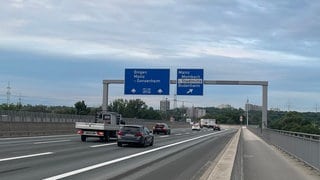
[[[199,179],[233,129],[172,129],[152,147],[118,147],[116,141],[77,135],[0,139],[0,177],[6,179]]]

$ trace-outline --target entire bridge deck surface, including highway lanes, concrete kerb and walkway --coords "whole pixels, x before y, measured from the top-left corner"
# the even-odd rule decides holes
[[[171,135],[155,135],[154,146],[146,148],[118,147],[116,140],[103,143],[95,138],[81,142],[75,134],[0,138],[0,177],[319,179],[317,167],[297,161],[253,132],[258,131],[228,126],[221,131],[173,128]]]

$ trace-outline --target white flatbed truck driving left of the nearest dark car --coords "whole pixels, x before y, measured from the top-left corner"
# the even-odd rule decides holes
[[[125,121],[121,114],[115,112],[100,112],[94,122],[76,122],[75,128],[85,142],[88,137],[97,137],[101,141],[108,142],[110,138],[117,138],[117,131]]]

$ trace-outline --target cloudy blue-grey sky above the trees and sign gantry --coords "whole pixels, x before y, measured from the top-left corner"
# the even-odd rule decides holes
[[[319,0],[0,0],[0,103],[102,103],[126,68],[204,69],[205,80],[268,81],[268,106],[320,110]],[[170,96],[124,95],[159,108]],[[261,105],[260,86],[204,87],[178,106]],[[172,102],[173,104],[173,102]]]

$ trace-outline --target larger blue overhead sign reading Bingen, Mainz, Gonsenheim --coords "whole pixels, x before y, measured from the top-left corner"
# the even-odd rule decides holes
[[[126,69],[124,94],[169,95],[170,69]]]

